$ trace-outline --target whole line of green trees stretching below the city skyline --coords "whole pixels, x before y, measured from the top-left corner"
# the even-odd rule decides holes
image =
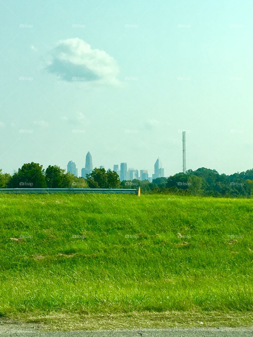
[[[86,178],[75,177],[57,165],[46,170],[38,163],[26,163],[13,175],[2,173],[0,188],[138,188],[142,193],[173,193],[214,197],[251,197],[253,194],[253,169],[232,175],[201,167],[168,178],[120,182],[116,172],[94,168]]]

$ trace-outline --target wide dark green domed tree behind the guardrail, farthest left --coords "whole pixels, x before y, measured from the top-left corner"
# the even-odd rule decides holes
[[[27,163],[15,172],[7,183],[9,188],[47,187],[44,170],[38,163]]]

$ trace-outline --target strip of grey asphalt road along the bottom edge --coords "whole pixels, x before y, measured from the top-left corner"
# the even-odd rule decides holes
[[[36,332],[2,330],[1,337],[252,337],[253,329],[246,328],[189,328],[141,329],[114,331]]]

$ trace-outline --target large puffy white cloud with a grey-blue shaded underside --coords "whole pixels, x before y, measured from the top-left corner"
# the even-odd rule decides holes
[[[114,58],[103,50],[91,49],[88,43],[78,37],[57,43],[47,70],[67,82],[119,83],[119,66]]]

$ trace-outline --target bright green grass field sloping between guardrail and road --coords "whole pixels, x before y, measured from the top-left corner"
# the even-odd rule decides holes
[[[3,194],[0,214],[2,316],[253,310],[250,199]]]

